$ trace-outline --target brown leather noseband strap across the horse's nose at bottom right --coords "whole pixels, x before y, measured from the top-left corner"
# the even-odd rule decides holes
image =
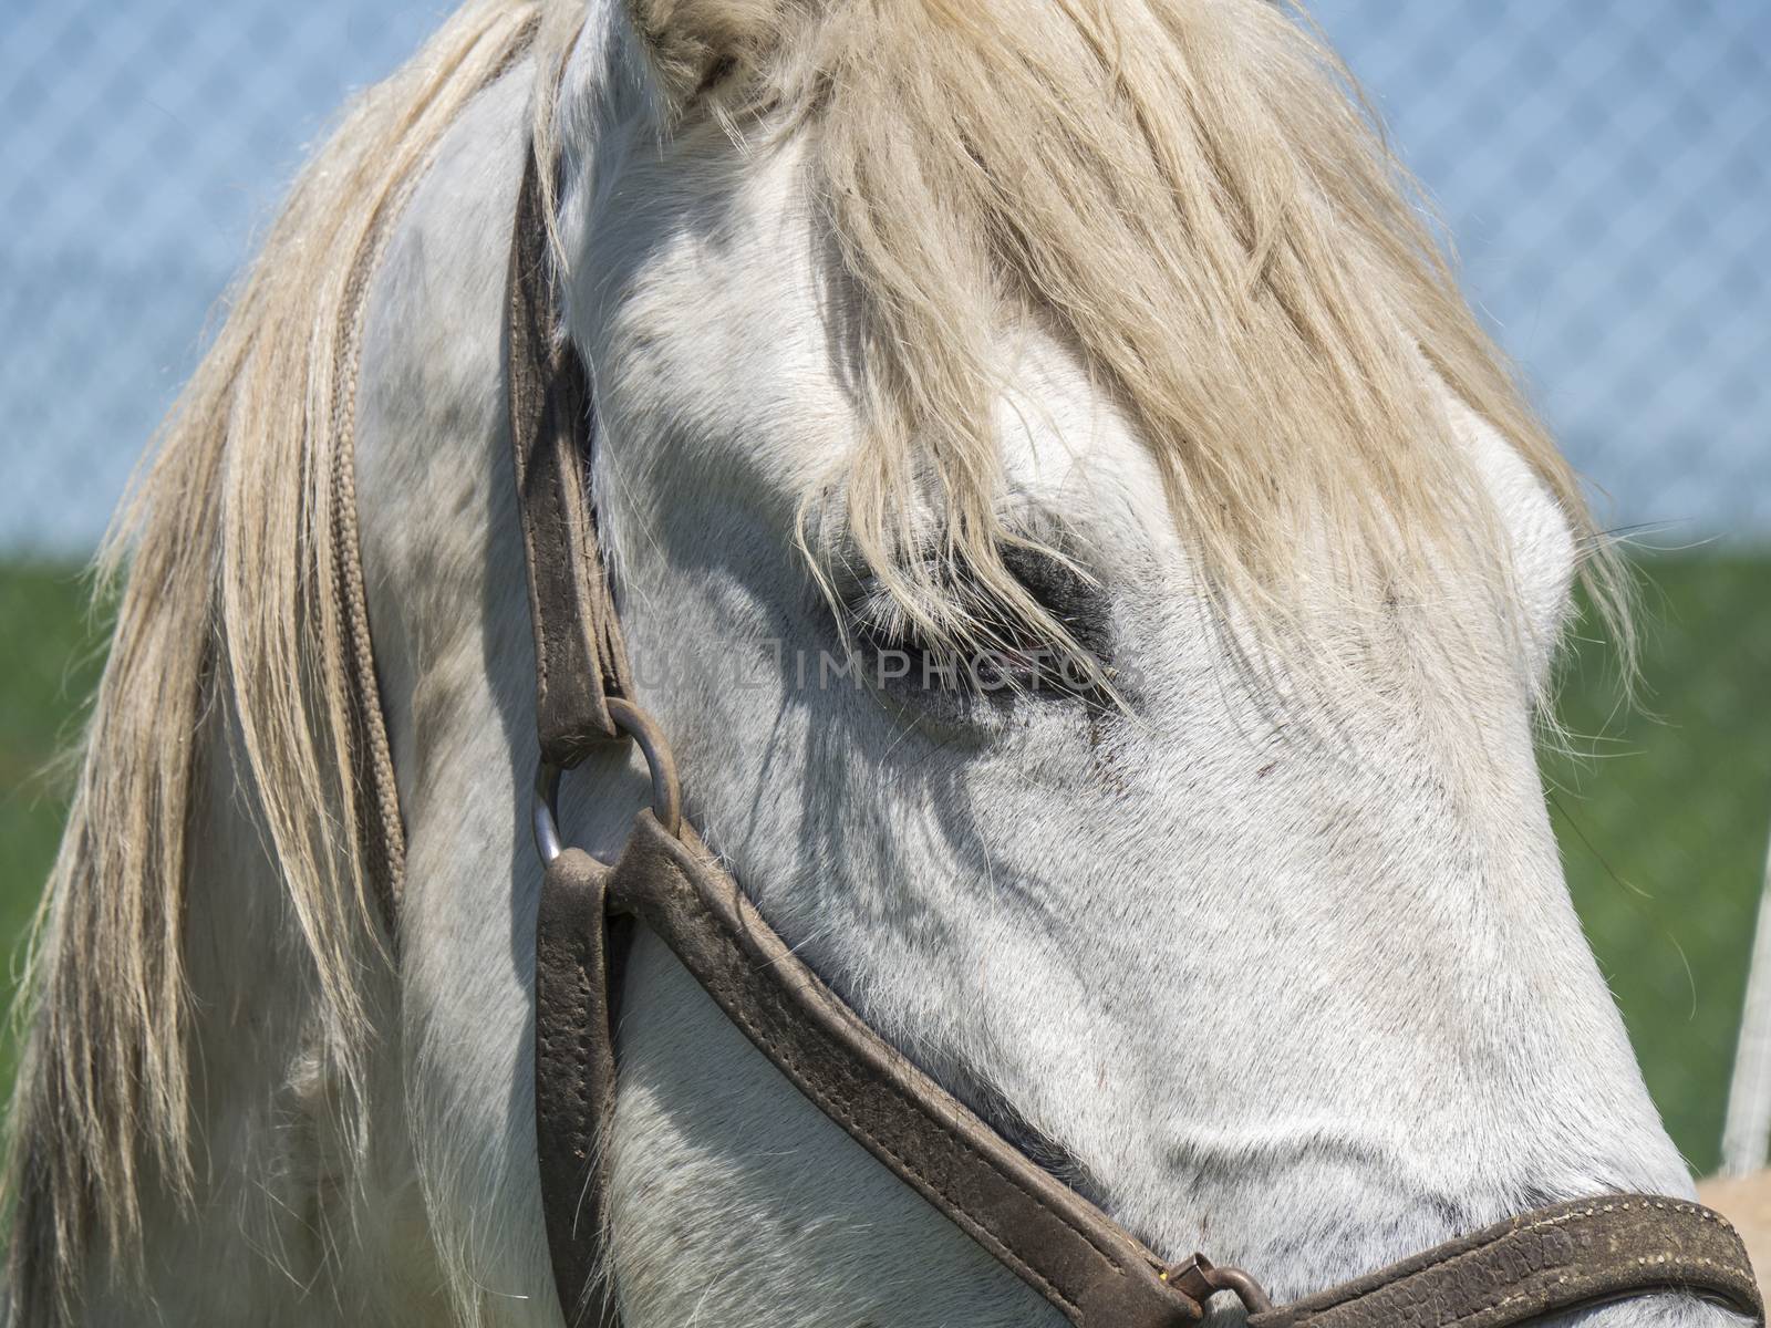
[[[1256,1314],[1249,1328],[1502,1328],[1656,1293],[1691,1293],[1764,1323],[1746,1248],[1727,1218],[1681,1199],[1608,1195],[1447,1241]]]

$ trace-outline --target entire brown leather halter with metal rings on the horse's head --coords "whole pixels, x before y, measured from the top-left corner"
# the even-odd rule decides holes
[[[763,921],[682,816],[675,763],[634,703],[584,467],[588,375],[558,313],[542,189],[528,152],[510,251],[507,379],[535,627],[535,1131],[567,1323],[618,1328],[602,1280],[611,1002],[625,937],[652,930],[749,1041],[825,1116],[1077,1328],[1179,1328],[1226,1291],[1252,1328],[1500,1328],[1628,1296],[1686,1291],[1764,1323],[1734,1229],[1681,1199],[1605,1195],[1447,1241],[1293,1305],[1240,1270],[1171,1264],[1009,1146],[836,997]],[[613,866],[563,846],[560,772],[634,742],[652,772]]]

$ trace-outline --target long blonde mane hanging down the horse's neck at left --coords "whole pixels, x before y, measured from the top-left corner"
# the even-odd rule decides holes
[[[115,634],[39,912],[12,1107],[12,1296],[30,1323],[66,1317],[94,1239],[129,1264],[143,1172],[191,1193],[186,836],[218,735],[282,873],[324,1054],[361,1107],[363,981],[384,956],[336,593],[354,547],[333,483],[363,276],[459,110],[561,9],[544,25],[544,0],[469,0],[351,106],[113,522],[99,583],[117,588]]]

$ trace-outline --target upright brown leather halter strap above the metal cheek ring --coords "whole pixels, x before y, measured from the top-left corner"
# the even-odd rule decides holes
[[[505,375],[530,570],[542,760],[570,767],[595,742],[618,737],[606,698],[625,694],[629,682],[584,485],[590,384],[561,335],[545,234],[531,151],[510,243]]]

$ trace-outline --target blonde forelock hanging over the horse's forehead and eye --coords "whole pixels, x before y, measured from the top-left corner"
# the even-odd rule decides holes
[[[1004,328],[1066,342],[1160,467],[1208,591],[1309,641],[1332,613],[1509,600],[1491,503],[1447,391],[1543,478],[1615,584],[1578,482],[1482,331],[1351,76],[1268,0],[653,0],[682,117],[806,135],[866,310],[866,443],[824,494],[916,625],[974,645],[976,597],[1061,637],[1004,570]],[[933,498],[932,537],[916,513]],[[829,542],[829,540],[827,540]],[[985,636],[990,620],[983,623]],[[1286,630],[1295,629],[1295,630]]]

